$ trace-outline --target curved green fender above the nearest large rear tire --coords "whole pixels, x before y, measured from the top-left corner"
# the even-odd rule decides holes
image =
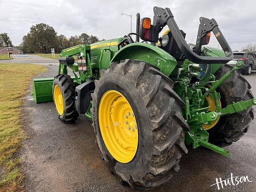
[[[168,52],[146,43],[132,43],[124,46],[116,52],[111,63],[125,59],[140,60],[152,64],[166,76],[169,76],[177,65],[176,59]]]

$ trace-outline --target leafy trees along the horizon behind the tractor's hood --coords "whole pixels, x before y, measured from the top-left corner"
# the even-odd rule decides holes
[[[67,38],[64,35],[57,35],[55,29],[48,24],[40,23],[32,25],[27,35],[23,36],[22,43],[18,46],[25,53],[51,53],[51,48],[55,52],[61,52],[65,48],[78,44],[92,44],[99,41],[96,36],[82,33],[80,36]],[[13,46],[7,33],[0,34],[0,47]]]

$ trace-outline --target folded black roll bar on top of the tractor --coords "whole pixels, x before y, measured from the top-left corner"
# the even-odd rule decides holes
[[[158,40],[159,32],[164,28],[165,25],[168,25],[170,32],[180,51],[184,54],[188,60],[191,60],[197,64],[225,64],[228,61],[233,59],[233,53],[223,36],[220,28],[215,19],[207,19],[204,17],[200,17],[200,25],[198,28],[198,34],[196,38],[196,47],[195,52],[193,52],[189,47],[187,42],[184,39],[184,36],[180,32],[176,21],[174,20],[174,16],[169,8],[160,8],[154,7],[154,19],[153,19],[153,30],[154,37],[153,39]],[[208,32],[213,32],[216,36],[216,39],[220,43],[221,48],[225,52],[226,57],[208,57],[208,56],[200,56],[201,47],[202,47],[202,38],[206,36]]]

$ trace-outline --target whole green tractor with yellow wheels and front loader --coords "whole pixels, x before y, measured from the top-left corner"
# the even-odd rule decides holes
[[[247,132],[256,105],[237,72],[243,62],[226,64],[233,54],[216,20],[200,17],[193,45],[169,8],[153,11],[153,22],[137,13],[136,33],[64,49],[58,75],[34,79],[32,90],[36,103],[54,101],[64,123],[91,118],[104,160],[139,190],[178,172],[186,145],[229,156],[222,147]],[[205,46],[211,32],[222,50]]]

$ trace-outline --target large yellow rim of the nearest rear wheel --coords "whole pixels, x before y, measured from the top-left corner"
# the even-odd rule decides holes
[[[132,107],[120,92],[109,90],[102,96],[99,124],[108,152],[121,163],[130,162],[136,155],[139,134]]]

